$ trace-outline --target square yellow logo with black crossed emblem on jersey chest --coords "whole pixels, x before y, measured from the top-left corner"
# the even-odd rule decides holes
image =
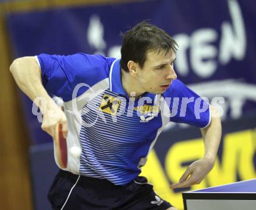
[[[104,113],[116,115],[120,103],[120,99],[105,94],[102,98],[101,105],[99,105],[99,110],[103,111]]]

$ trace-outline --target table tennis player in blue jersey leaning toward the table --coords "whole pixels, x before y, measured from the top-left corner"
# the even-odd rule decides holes
[[[204,157],[170,187],[198,184],[211,171],[221,120],[212,117],[218,111],[207,100],[176,79],[176,50],[172,37],[143,21],[123,34],[121,59],[76,53],[13,61],[17,85],[42,111],[42,129],[54,136],[61,124],[67,150],[81,149],[79,155],[67,151],[67,166],[48,193],[52,209],[175,210],[139,176],[170,121],[197,126],[205,145]],[[65,112],[52,96],[63,99]],[[44,110],[37,97],[47,102]]]

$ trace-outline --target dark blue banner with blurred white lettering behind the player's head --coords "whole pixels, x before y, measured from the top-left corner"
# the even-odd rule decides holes
[[[120,57],[120,31],[150,19],[179,44],[178,78],[210,102],[215,96],[225,98],[221,104],[225,120],[256,108],[255,4],[253,0],[140,1],[23,11],[9,14],[6,21],[15,57],[77,52]],[[41,131],[32,103],[23,97],[33,143],[51,141]]]

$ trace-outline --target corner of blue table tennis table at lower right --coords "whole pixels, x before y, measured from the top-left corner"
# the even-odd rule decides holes
[[[182,193],[184,210],[255,210],[256,179]]]

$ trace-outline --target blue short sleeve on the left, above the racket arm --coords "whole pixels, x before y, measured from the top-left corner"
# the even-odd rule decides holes
[[[115,59],[101,55],[77,53],[69,56],[41,54],[36,56],[41,67],[42,84],[51,95],[72,99],[76,85],[93,86],[108,77],[110,66]],[[79,89],[77,96],[86,91]]]

